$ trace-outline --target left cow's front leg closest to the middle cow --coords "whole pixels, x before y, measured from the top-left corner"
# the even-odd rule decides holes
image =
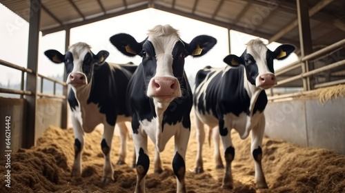
[[[101,150],[104,156],[104,165],[103,165],[103,183],[110,183],[114,181],[114,169],[111,163],[111,145],[112,145],[112,136],[114,134],[115,126],[104,123],[104,131],[101,141]]]

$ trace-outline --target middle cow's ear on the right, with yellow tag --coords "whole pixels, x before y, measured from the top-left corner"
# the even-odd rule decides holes
[[[188,55],[192,57],[201,57],[210,51],[217,43],[217,39],[207,35],[200,35],[195,37],[187,46]]]

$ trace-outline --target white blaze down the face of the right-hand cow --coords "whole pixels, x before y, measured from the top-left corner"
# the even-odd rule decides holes
[[[253,39],[247,43],[247,54],[252,55],[257,63],[257,69],[259,71],[258,76],[255,79],[255,85],[259,85],[259,77],[263,74],[273,74],[268,69],[266,53],[268,48],[260,39]]]

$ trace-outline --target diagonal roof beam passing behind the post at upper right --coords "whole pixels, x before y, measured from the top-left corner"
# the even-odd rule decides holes
[[[313,16],[313,14],[317,13],[319,10],[322,10],[322,8],[328,6],[329,3],[332,3],[334,0],[322,0],[319,1],[313,8],[309,9],[309,17]],[[279,40],[281,37],[283,37],[286,33],[290,32],[291,30],[295,29],[298,26],[298,19],[295,19],[293,22],[289,23],[287,26],[282,28],[279,32],[277,32],[273,37],[270,37],[268,39],[268,42],[273,42]]]

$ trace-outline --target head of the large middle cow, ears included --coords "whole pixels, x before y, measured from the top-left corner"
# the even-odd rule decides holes
[[[142,57],[147,96],[159,103],[170,103],[182,95],[179,80],[184,76],[184,58],[201,57],[217,40],[201,35],[186,43],[177,30],[166,25],[149,30],[148,37],[140,43],[129,34],[116,34],[110,42],[129,57]]]

